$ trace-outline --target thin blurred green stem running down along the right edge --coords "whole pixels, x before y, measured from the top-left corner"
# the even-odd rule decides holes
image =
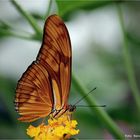
[[[133,70],[131,56],[129,53],[128,39],[127,39],[126,32],[125,32],[123,14],[122,14],[122,10],[121,10],[121,7],[119,4],[117,4],[117,12],[118,12],[120,27],[121,27],[121,31],[122,31],[122,35],[123,35],[122,48],[123,48],[123,58],[124,58],[125,68],[126,68],[128,81],[130,84],[130,88],[132,90],[132,94],[133,94],[135,103],[140,112],[140,94],[139,94],[139,89],[138,89],[138,86],[136,83],[136,78],[135,78],[135,74],[134,74],[134,70]]]

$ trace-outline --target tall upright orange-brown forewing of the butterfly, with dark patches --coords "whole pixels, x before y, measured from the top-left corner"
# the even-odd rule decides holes
[[[56,15],[45,23],[43,45],[37,60],[51,76],[55,109],[67,104],[71,83],[71,44],[67,28]]]

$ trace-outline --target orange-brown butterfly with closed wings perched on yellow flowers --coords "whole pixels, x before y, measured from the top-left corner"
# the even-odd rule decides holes
[[[58,117],[75,106],[68,105],[71,83],[71,43],[60,17],[50,16],[43,43],[16,88],[15,108],[20,121],[32,122],[49,114]]]

